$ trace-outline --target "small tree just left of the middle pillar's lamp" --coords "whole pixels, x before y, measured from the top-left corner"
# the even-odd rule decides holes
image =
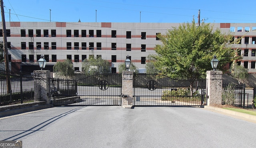
[[[101,57],[98,57],[97,59],[91,57],[88,60],[84,60],[82,63],[82,70],[85,75],[110,73],[110,69],[110,63],[107,60],[102,59]]]

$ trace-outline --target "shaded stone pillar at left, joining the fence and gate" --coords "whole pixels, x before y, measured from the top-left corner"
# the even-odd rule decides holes
[[[38,91],[40,91],[40,97],[42,100],[50,104],[50,71],[49,70],[38,70],[34,71],[34,90],[35,96],[38,96]],[[38,79],[39,78],[39,79]]]

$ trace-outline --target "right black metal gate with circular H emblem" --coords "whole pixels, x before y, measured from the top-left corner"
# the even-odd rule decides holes
[[[164,75],[134,75],[135,106],[200,106],[206,97],[206,80],[175,80]]]

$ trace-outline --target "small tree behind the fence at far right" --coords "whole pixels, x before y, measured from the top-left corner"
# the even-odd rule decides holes
[[[234,64],[232,67],[231,75],[238,80],[238,84],[240,84],[242,80],[247,79],[249,76],[247,69],[237,64]]]

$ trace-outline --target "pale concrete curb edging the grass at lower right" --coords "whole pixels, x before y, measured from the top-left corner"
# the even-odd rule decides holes
[[[245,114],[242,112],[236,112],[236,111],[230,111],[228,109],[222,109],[222,108],[218,108],[218,107],[211,107],[211,106],[204,106],[204,109],[209,109],[209,110],[213,110],[213,111],[217,111],[217,112],[222,112],[224,114],[229,114],[231,116],[236,116],[237,118],[245,118],[248,120],[252,120],[254,122],[256,122],[256,116],[254,115],[250,115],[250,114]]]

